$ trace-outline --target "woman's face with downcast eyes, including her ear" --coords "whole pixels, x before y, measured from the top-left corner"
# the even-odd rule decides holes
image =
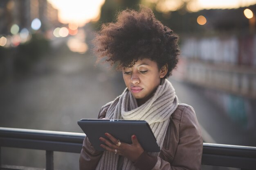
[[[159,70],[157,63],[150,59],[139,59],[132,68],[123,68],[126,87],[137,99],[138,105],[144,104],[153,96],[167,70],[166,65]]]

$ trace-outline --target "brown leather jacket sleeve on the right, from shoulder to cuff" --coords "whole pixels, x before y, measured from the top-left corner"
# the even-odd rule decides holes
[[[160,157],[143,153],[135,166],[141,170],[146,170],[146,168],[152,170],[200,170],[202,148],[203,139],[195,111],[191,106],[186,105],[180,120],[179,144],[173,161],[169,163]]]

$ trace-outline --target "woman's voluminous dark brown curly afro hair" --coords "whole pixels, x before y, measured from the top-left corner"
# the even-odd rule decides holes
[[[139,11],[126,9],[117,21],[103,24],[92,43],[98,61],[107,57],[117,68],[132,67],[138,59],[151,59],[158,68],[168,64],[167,78],[178,62],[178,36],[155,18],[153,11],[140,6]]]

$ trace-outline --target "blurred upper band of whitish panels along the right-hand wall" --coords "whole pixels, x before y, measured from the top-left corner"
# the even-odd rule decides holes
[[[256,68],[256,35],[186,37],[182,42],[182,56],[216,64]]]

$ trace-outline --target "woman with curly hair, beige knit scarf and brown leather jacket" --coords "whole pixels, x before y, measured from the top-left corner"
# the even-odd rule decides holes
[[[94,150],[85,137],[80,156],[80,170],[198,170],[202,157],[200,126],[193,108],[178,104],[175,90],[166,79],[176,67],[178,37],[163,26],[153,12],[125,10],[117,22],[105,24],[94,39],[95,52],[108,57],[123,72],[126,89],[114,101],[104,105],[99,119],[146,120],[160,153],[147,153],[137,137],[132,144],[106,133]]]

